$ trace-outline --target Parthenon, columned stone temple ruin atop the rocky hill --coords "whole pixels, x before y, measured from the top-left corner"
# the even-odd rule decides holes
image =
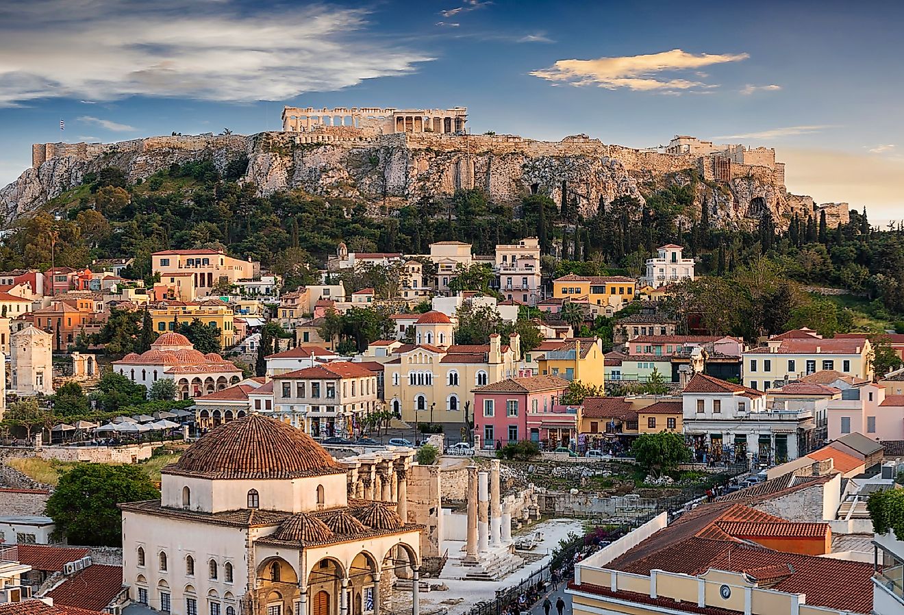
[[[466,107],[452,109],[381,109],[377,107],[286,107],[283,130],[310,132],[325,127],[359,128],[372,135],[397,132],[433,132],[442,135],[465,132]]]

